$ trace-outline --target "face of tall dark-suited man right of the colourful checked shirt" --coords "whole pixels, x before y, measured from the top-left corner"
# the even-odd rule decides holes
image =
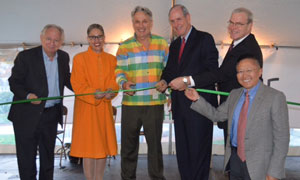
[[[190,14],[184,16],[180,7],[171,10],[169,22],[176,36],[186,36],[192,26]]]

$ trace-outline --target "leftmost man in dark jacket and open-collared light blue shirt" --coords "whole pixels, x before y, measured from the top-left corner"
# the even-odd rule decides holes
[[[10,90],[14,101],[62,96],[71,88],[69,55],[59,50],[64,31],[46,25],[40,35],[41,46],[24,50],[14,61]],[[40,180],[52,180],[57,124],[62,123],[62,99],[13,104],[12,121],[21,180],[36,179],[36,155],[39,151]]]

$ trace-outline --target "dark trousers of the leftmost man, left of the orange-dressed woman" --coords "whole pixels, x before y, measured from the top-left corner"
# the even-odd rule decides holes
[[[40,180],[53,180],[54,148],[59,118],[59,106],[45,109],[35,130],[20,130],[13,123],[19,174],[21,180],[36,179],[36,155],[39,151]]]

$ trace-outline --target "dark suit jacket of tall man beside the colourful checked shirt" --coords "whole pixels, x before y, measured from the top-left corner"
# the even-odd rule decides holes
[[[161,79],[170,83],[173,79],[180,76],[194,76],[206,71],[213,71],[218,68],[218,50],[216,49],[213,37],[206,33],[196,30],[192,31],[187,39],[180,64],[178,64],[179,49],[181,38],[177,38],[170,45],[169,58]],[[196,85],[195,88],[199,88]],[[206,89],[215,89],[214,84],[205,86]],[[174,119],[177,113],[188,111],[191,101],[187,99],[183,91],[172,90],[172,113]],[[217,105],[215,95],[202,94],[202,96]]]

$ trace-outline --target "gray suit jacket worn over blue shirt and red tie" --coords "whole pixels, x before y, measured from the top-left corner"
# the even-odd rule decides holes
[[[261,82],[259,82],[261,83]],[[243,88],[234,89],[228,99],[214,108],[202,97],[191,108],[214,122],[228,119],[230,142],[232,117]],[[263,83],[259,86],[248,114],[245,135],[246,163],[251,179],[265,180],[266,175],[285,177],[285,158],[289,148],[289,120],[285,95]],[[225,149],[224,170],[231,155],[231,143]]]

